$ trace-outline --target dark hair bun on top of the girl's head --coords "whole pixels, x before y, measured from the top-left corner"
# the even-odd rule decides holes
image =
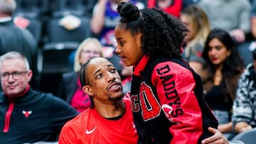
[[[126,21],[134,21],[139,17],[139,9],[130,2],[121,2],[117,6],[117,11]]]

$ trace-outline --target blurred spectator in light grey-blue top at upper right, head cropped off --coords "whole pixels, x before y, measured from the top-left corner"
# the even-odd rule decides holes
[[[212,28],[228,31],[235,43],[245,42],[245,34],[250,32],[248,0],[201,0],[198,5],[206,11]]]

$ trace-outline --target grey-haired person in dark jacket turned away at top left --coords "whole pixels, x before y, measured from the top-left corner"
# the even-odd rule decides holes
[[[31,87],[38,89],[40,77],[37,68],[37,43],[29,31],[15,26],[12,19],[15,9],[14,0],[0,0],[0,55],[12,50],[25,55],[33,70]]]

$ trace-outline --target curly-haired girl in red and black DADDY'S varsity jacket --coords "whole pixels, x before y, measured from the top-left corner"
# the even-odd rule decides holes
[[[218,122],[203,100],[201,78],[181,58],[188,32],[159,9],[117,7],[115,52],[134,66],[131,102],[138,143],[201,143]]]

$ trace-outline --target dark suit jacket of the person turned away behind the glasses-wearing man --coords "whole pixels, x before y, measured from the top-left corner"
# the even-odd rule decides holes
[[[26,29],[18,28],[13,21],[0,22],[0,55],[6,52],[21,52],[27,59],[33,77],[31,87],[39,88],[38,46],[33,35]]]

